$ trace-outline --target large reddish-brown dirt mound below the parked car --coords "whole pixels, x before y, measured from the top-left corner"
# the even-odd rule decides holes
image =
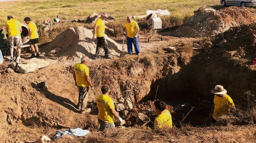
[[[250,8],[228,7],[216,11],[213,8],[199,8],[172,34],[182,37],[207,37],[227,31],[230,27],[256,22]],[[171,35],[172,35],[171,34]]]

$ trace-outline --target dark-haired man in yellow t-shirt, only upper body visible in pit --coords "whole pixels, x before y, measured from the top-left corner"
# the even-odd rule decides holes
[[[158,115],[154,120],[154,128],[172,128],[171,113],[166,109],[164,101],[154,101],[156,111],[153,113]]]

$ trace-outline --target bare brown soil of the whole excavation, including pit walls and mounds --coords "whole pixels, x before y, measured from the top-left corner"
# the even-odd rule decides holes
[[[163,41],[154,36],[147,42],[150,34],[143,34],[139,56],[119,58],[122,38],[113,38],[108,43],[114,58],[96,60],[91,31],[73,27],[40,47],[45,53],[41,58],[51,64],[33,73],[11,72],[8,57],[4,57],[0,66],[0,140],[33,142],[41,135],[53,137],[65,128],[83,128],[92,133],[80,138],[65,135],[54,142],[255,142],[256,129],[252,124],[207,128],[195,122],[195,127],[179,124],[182,112],[187,113],[191,106],[211,107],[210,91],[215,85],[223,85],[237,107],[246,106],[248,91],[256,91],[256,67],[251,65],[256,58],[255,20],[252,8],[200,8],[176,30],[160,31]],[[56,47],[61,47],[61,52],[49,58],[47,53]],[[226,53],[232,57],[223,58]],[[90,77],[95,89],[89,91],[88,107],[92,112],[80,114],[76,108],[78,90],[73,66],[83,55],[91,58]],[[28,57],[24,54],[22,58]],[[41,82],[45,86],[40,86]],[[91,105],[105,84],[110,85],[110,96],[115,102],[126,97],[127,90],[130,92],[134,108],[127,115],[120,113],[126,120],[126,129],[99,131],[98,110]],[[149,116],[146,127],[136,123],[138,113],[147,115],[146,109],[154,110],[155,99],[165,100],[169,109],[173,107],[173,129],[151,130],[155,116]],[[186,108],[182,109],[181,104]],[[192,115],[196,114],[199,113]]]

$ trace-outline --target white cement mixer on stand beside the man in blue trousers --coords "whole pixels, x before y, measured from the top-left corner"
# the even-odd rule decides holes
[[[156,14],[149,14],[146,17],[146,24],[148,27],[150,27],[150,38],[147,39],[148,42],[150,42],[150,39],[153,37],[153,35],[156,33],[158,37],[163,41],[163,37],[160,36],[157,32],[157,29],[162,29],[162,20],[160,17],[158,17]],[[152,34],[152,30],[154,33]]]

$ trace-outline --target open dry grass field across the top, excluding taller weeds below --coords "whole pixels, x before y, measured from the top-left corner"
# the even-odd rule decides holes
[[[32,20],[53,20],[56,15],[62,19],[78,19],[82,15],[89,16],[93,12],[98,14],[106,11],[117,20],[125,19],[123,15],[146,15],[146,10],[167,9],[180,15],[191,15],[202,6],[219,5],[215,0],[26,0],[0,2],[0,25],[3,26],[7,15],[23,21],[29,16]],[[75,11],[75,12],[74,12]]]

